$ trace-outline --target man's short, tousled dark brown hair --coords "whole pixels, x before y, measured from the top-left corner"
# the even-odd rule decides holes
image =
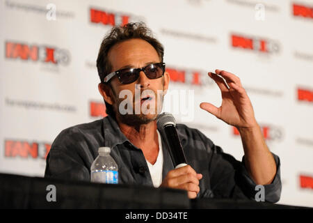
[[[154,47],[157,51],[161,62],[163,62],[163,45],[159,42],[159,40],[153,37],[152,31],[145,26],[145,23],[136,22],[125,24],[125,26],[114,26],[111,29],[111,32],[108,33],[102,40],[97,58],[97,70],[102,83],[104,83],[104,77],[109,75],[110,72],[113,72],[112,65],[109,61],[109,50],[118,43],[134,38],[140,38],[147,41],[147,43],[150,43],[150,45],[152,45],[152,47]],[[110,83],[111,82],[108,84]],[[106,101],[104,102],[106,104],[106,114],[115,118],[113,107]]]

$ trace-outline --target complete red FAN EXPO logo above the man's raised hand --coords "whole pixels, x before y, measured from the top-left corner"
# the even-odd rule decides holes
[[[278,42],[265,38],[255,38],[242,35],[231,35],[232,47],[250,49],[256,52],[274,53],[279,52]]]

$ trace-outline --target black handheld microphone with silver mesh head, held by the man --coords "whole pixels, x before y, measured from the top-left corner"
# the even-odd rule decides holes
[[[163,138],[166,139],[166,144],[169,148],[170,157],[172,158],[175,169],[186,166],[186,157],[177,134],[174,116],[168,112],[159,114],[157,127],[161,130]]]

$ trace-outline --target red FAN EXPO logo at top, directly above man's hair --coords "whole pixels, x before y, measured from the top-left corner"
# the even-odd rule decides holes
[[[105,26],[124,26],[129,22],[143,20],[143,17],[137,17],[127,13],[117,13],[99,8],[90,8],[90,22],[104,24]]]

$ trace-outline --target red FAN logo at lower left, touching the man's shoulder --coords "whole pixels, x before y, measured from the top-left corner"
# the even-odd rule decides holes
[[[33,157],[46,159],[50,151],[51,144],[28,142],[28,141],[5,141],[5,156],[6,157]]]

